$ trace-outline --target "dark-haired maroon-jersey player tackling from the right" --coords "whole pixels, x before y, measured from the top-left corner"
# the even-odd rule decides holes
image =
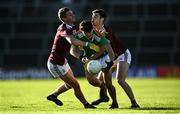
[[[108,40],[111,42],[111,46],[115,53],[114,69],[116,68],[116,79],[119,85],[124,89],[127,96],[131,100],[131,108],[139,108],[131,87],[125,81],[126,75],[131,63],[131,54],[129,50],[123,45],[123,43],[116,38],[112,29],[109,26],[105,26],[104,22],[106,20],[106,13],[102,9],[96,9],[92,11],[92,23],[94,29],[98,30],[102,34],[106,34]],[[113,70],[113,68],[112,68]],[[102,73],[99,74],[99,79],[102,79]],[[99,98],[96,101],[92,102],[93,105],[98,105],[101,102],[107,102],[106,100]]]

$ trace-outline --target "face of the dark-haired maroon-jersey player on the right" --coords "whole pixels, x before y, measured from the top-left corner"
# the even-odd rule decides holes
[[[100,15],[98,13],[93,13],[91,21],[94,26],[100,25],[101,24]]]

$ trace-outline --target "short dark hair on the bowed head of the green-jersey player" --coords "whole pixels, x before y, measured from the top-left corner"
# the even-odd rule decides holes
[[[83,20],[79,24],[79,29],[84,31],[84,33],[89,33],[92,31],[93,25],[92,25],[91,21]]]

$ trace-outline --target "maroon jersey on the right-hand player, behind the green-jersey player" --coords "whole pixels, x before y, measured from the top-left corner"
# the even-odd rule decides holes
[[[112,31],[112,28],[109,26],[104,26],[104,30],[100,30],[107,32],[107,39],[111,42],[111,47],[113,48],[115,58],[117,58],[119,55],[126,52],[126,46],[115,36],[114,32]]]

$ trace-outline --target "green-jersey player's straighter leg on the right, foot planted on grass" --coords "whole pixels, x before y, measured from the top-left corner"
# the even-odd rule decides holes
[[[109,92],[109,95],[112,98],[112,104],[110,108],[118,108],[118,103],[117,103],[117,98],[116,98],[116,89],[114,85],[112,84],[112,72],[109,70],[108,72],[104,72],[104,79],[105,79],[105,84],[107,87],[107,90]]]

